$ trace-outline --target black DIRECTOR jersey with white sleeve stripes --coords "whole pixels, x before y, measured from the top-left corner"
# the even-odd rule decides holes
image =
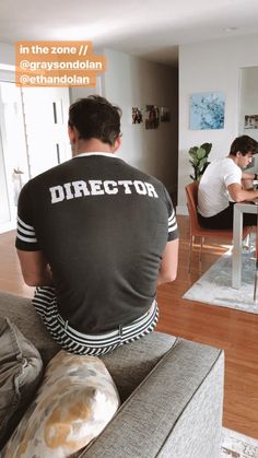
[[[109,153],[84,153],[21,190],[16,248],[43,250],[59,313],[99,333],[143,315],[162,253],[178,237],[164,185]]]

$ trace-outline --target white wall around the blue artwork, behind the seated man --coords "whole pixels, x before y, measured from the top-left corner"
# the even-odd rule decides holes
[[[185,185],[190,181],[188,150],[213,144],[210,158],[224,157],[238,131],[241,68],[258,64],[258,35],[225,38],[179,47],[179,157],[177,213],[187,214]],[[189,130],[189,95],[225,93],[225,124],[219,130]]]

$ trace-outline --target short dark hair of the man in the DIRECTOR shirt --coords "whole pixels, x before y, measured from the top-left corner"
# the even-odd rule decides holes
[[[99,95],[74,102],[69,109],[69,126],[75,127],[82,140],[98,139],[113,145],[120,136],[119,107]]]

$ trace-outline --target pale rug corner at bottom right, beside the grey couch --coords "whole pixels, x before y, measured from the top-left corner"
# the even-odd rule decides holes
[[[220,458],[258,458],[258,441],[224,427]]]

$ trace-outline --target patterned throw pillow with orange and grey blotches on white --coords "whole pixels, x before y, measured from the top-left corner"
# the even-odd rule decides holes
[[[69,457],[104,430],[119,402],[113,378],[98,357],[61,350],[48,363],[36,399],[2,457]]]

